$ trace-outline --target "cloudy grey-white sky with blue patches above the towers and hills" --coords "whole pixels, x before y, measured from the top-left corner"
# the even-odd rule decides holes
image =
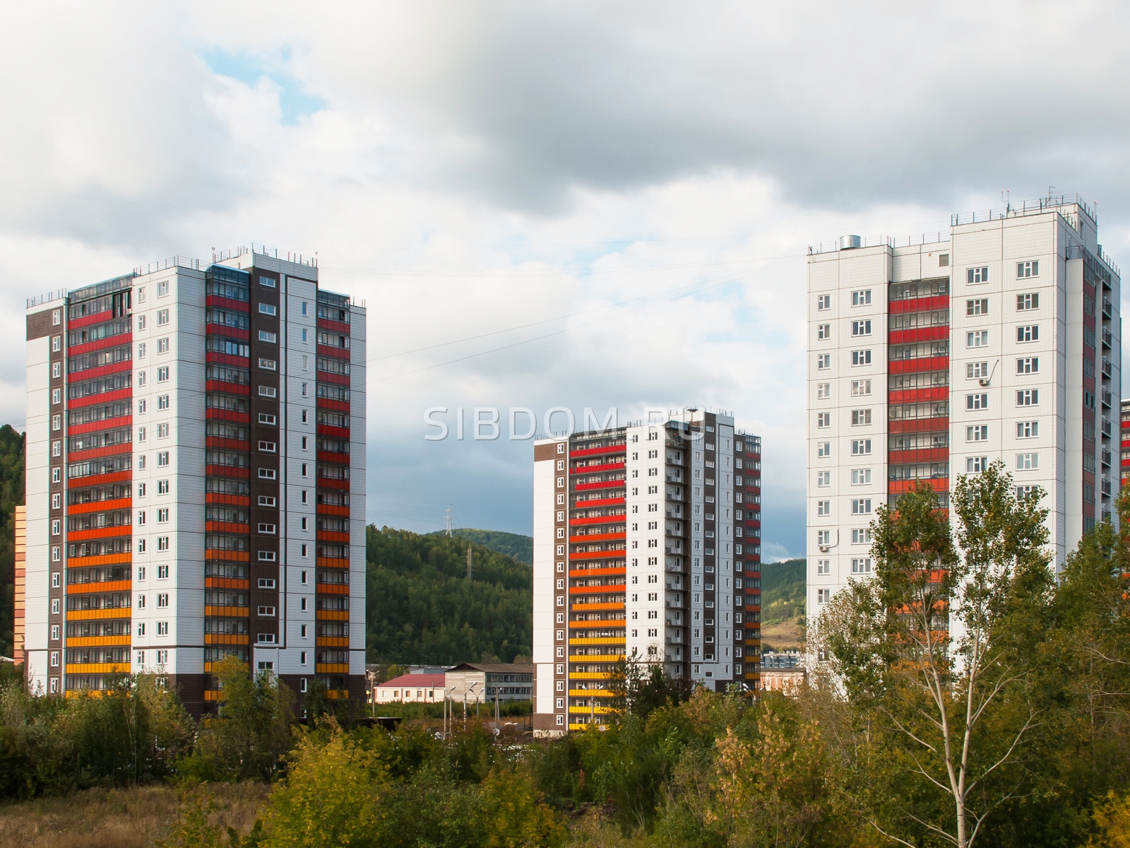
[[[11,0],[0,419],[24,421],[26,296],[261,242],[368,305],[370,520],[432,530],[452,504],[529,533],[510,407],[711,406],[764,439],[767,559],[801,555],[807,245],[1054,185],[1125,262],[1128,17]],[[426,441],[428,407],[468,434],[498,407],[503,438]]]

